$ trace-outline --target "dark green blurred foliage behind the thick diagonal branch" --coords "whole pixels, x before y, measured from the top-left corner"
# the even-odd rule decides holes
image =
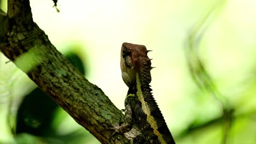
[[[76,53],[69,52],[66,54],[66,58],[77,67],[80,73],[85,75],[85,65]],[[60,110],[63,111],[40,88],[34,89],[25,96],[19,106],[16,130],[13,130],[16,142],[68,143],[68,141],[72,141],[71,143],[73,143],[83,141],[86,135],[82,133],[81,129],[67,134],[57,134],[56,128],[53,127],[53,121],[56,118],[56,113],[60,113]],[[66,113],[63,114],[65,117],[68,116]]]

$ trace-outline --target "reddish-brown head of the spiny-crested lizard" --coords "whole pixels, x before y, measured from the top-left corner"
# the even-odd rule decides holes
[[[125,84],[130,88],[136,83],[136,73],[141,67],[140,58],[149,59],[144,45],[123,43],[121,47],[121,72]]]

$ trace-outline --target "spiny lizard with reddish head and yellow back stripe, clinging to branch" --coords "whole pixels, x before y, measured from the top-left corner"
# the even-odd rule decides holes
[[[133,124],[141,131],[146,143],[175,143],[165,119],[152,95],[151,60],[146,46],[123,43],[121,73],[129,90],[125,98],[125,122],[115,127],[115,133],[130,131]]]

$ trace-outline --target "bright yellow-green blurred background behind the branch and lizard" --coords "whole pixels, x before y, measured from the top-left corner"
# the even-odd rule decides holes
[[[256,1],[31,0],[51,43],[124,109],[123,42],[153,58],[177,143],[256,143]],[[0,1],[7,11],[7,1]],[[0,143],[99,143],[0,53]]]

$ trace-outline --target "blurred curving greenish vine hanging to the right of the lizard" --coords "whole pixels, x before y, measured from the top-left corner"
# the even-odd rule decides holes
[[[188,35],[186,46],[185,46],[185,54],[187,58],[187,63],[189,66],[190,74],[193,77],[194,82],[200,89],[206,89],[209,93],[216,98],[223,109],[223,140],[222,143],[226,143],[226,139],[228,137],[228,131],[231,127],[232,122],[232,110],[228,99],[226,99],[220,92],[218,91],[217,86],[212,80],[210,74],[208,74],[205,65],[203,64],[200,55],[198,54],[198,45],[201,41],[202,35],[205,33],[207,27],[214,20],[217,14],[220,13],[220,10],[223,9],[226,1],[219,2],[216,6],[209,9],[206,14],[202,17],[202,19],[196,23],[196,25],[192,28],[191,32]],[[202,125],[200,125],[201,127]],[[191,128],[195,127],[192,123],[190,125]],[[189,128],[190,129],[190,128]]]

